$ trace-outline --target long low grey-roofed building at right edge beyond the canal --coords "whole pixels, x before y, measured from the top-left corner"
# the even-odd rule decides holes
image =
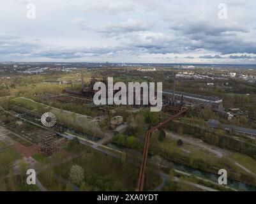
[[[229,131],[235,135],[250,136],[254,138],[256,137],[256,129],[241,128],[237,126],[221,124],[219,120],[214,119],[208,120],[207,125],[211,128],[222,128],[223,130]]]

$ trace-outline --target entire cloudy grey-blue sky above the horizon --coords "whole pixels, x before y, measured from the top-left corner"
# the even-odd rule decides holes
[[[256,1],[1,0],[0,61],[256,64]]]

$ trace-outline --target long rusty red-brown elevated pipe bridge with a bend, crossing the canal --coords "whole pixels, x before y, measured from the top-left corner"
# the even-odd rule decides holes
[[[187,113],[191,110],[191,108],[186,108],[184,110],[181,110],[180,112],[176,113],[176,115],[172,115],[169,117],[169,119],[164,120],[163,122],[160,122],[160,124],[154,126],[153,128],[149,129],[146,133],[146,140],[145,140],[145,145],[144,145],[144,150],[143,150],[143,158],[142,158],[142,164],[140,166],[140,173],[139,173],[139,180],[138,180],[138,185],[137,185],[137,191],[143,191],[144,187],[144,180],[145,180],[145,171],[146,171],[146,164],[147,164],[147,156],[148,156],[148,151],[149,151],[149,142],[150,142],[150,137],[151,134],[158,128],[161,128],[163,125],[167,124],[168,122],[177,119],[184,113]]]

